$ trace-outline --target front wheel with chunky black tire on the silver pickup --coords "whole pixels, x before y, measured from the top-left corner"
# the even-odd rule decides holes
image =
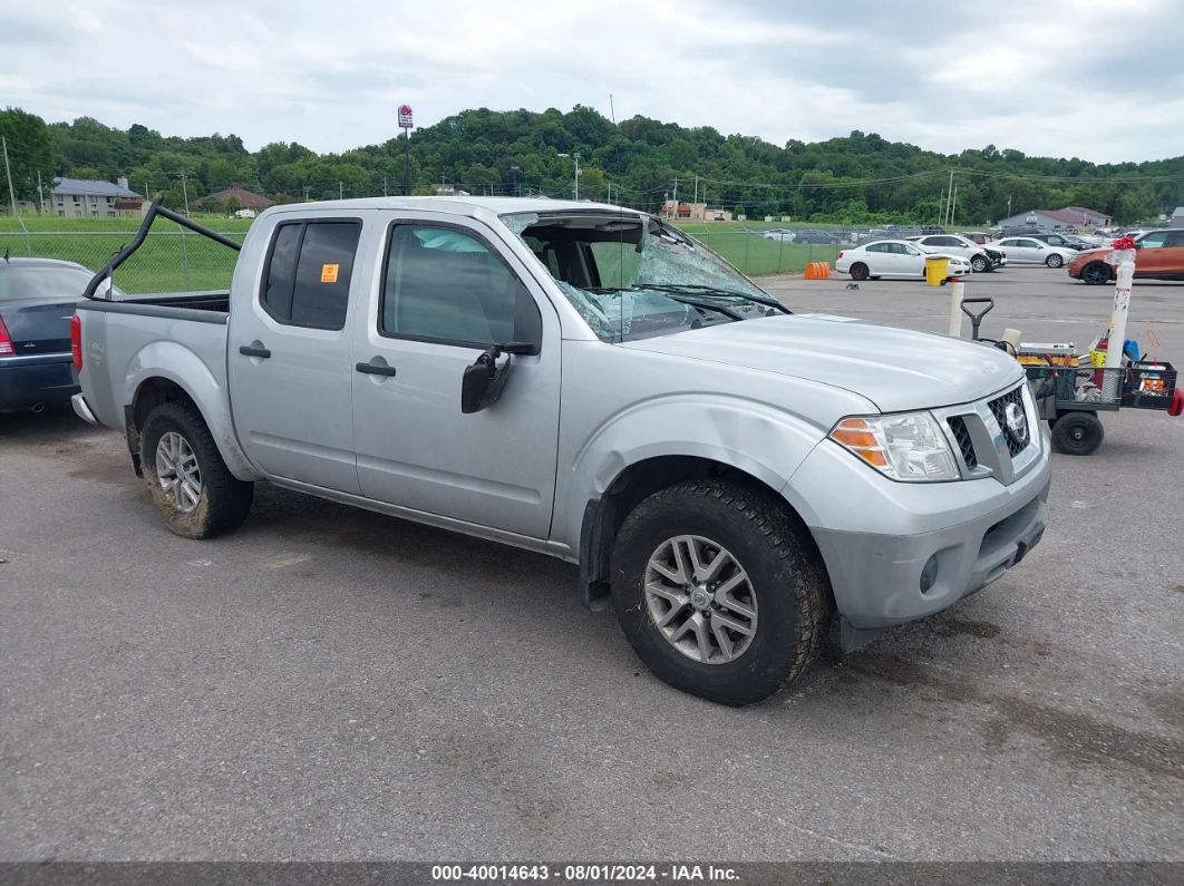
[[[697,586],[687,565],[695,562],[688,542],[701,565],[727,556]],[[650,671],[726,705],[757,704],[797,679],[822,646],[834,608],[807,530],[770,496],[720,479],[676,484],[633,509],[617,536],[611,576],[617,619]],[[671,593],[682,602],[673,602]],[[663,629],[658,621],[665,616],[673,620]],[[752,630],[732,630],[734,623]]]

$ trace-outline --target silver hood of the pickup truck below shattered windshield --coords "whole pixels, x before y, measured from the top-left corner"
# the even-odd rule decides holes
[[[966,403],[1024,377],[987,345],[825,315],[721,323],[619,347],[830,384],[882,412]]]

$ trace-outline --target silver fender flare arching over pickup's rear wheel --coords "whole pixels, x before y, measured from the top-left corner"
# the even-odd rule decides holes
[[[238,445],[225,381],[215,377],[201,357],[176,342],[156,341],[144,345],[128,363],[123,381],[124,406],[135,402],[140,388],[150,379],[166,379],[189,395],[234,477],[263,479]]]

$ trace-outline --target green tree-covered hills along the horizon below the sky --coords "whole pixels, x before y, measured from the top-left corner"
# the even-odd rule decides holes
[[[18,108],[0,111],[18,199],[37,200],[37,176],[114,181],[162,193],[180,208],[238,182],[276,202],[403,193],[403,136],[343,153],[296,142],[251,151],[236,135],[166,136],[92,117],[46,123]],[[567,156],[561,156],[561,155]],[[579,155],[580,198],[655,211],[675,193],[749,215],[831,224],[932,222],[950,172],[955,218],[978,226],[1029,208],[1085,206],[1120,224],[1153,221],[1184,205],[1184,156],[1141,163],[1030,157],[989,144],[946,155],[855,130],[823,142],[783,145],[710,127],[648,117],[613,123],[597,110],[455,114],[411,136],[416,194],[451,185],[471,194],[571,196]],[[182,188],[182,173],[185,186]],[[7,201],[5,201],[7,202]]]

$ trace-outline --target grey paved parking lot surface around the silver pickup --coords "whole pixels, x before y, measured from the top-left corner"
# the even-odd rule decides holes
[[[768,285],[945,328],[945,289]],[[1108,287],[976,277],[1085,344]],[[1184,364],[1184,286],[1131,337]],[[1184,419],[1056,457],[1051,520],[953,610],[731,710],[635,659],[575,569],[264,487],[172,536],[122,439],[0,416],[0,859],[1184,860]]]

